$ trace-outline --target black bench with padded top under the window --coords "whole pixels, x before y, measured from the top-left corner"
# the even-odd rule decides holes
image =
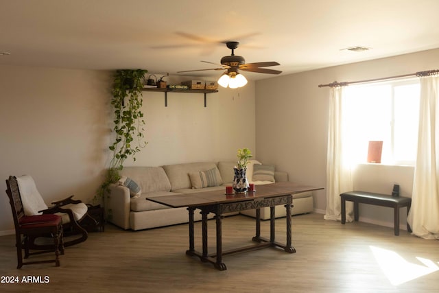
[[[342,198],[342,224],[346,222],[346,200],[354,202],[354,220],[358,221],[359,211],[358,204],[374,204],[381,207],[392,207],[394,209],[394,231],[395,235],[399,235],[399,209],[407,207],[407,215],[412,205],[412,198],[405,198],[403,196],[389,196],[387,194],[374,194],[366,191],[349,191],[340,194]],[[407,231],[412,232],[409,224],[407,224]]]

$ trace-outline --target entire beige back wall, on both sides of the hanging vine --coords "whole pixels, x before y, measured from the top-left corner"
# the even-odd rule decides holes
[[[13,233],[5,179],[30,174],[45,202],[90,202],[108,166],[112,73],[0,66],[0,235]],[[255,152],[254,82],[204,95],[143,93],[149,142],[126,165],[235,160]]]

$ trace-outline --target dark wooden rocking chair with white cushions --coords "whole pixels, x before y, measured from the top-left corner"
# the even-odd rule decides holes
[[[95,221],[90,215],[88,215],[88,207],[81,200],[73,200],[73,196],[64,198],[64,200],[59,200],[52,202],[51,207],[47,207],[43,197],[36,189],[34,179],[29,175],[23,175],[16,178],[19,183],[19,189],[21,194],[21,200],[23,202],[23,208],[25,215],[47,215],[56,214],[62,217],[62,226],[64,228],[64,236],[75,235],[73,239],[64,242],[64,246],[72,246],[84,242],[87,237],[87,231],[82,228],[80,222],[88,218],[88,220]],[[30,239],[31,246],[38,248],[48,248],[40,246],[35,243],[35,239]]]

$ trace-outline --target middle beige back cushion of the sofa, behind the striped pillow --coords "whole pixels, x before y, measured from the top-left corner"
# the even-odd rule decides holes
[[[206,171],[216,167],[217,164],[213,162],[200,162],[164,165],[163,169],[171,183],[171,190],[174,191],[176,189],[192,188],[189,173]]]

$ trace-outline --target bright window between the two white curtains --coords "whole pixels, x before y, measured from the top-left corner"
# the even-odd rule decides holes
[[[419,80],[350,85],[343,104],[346,151],[366,163],[369,141],[383,141],[381,163],[414,165],[418,141]]]

